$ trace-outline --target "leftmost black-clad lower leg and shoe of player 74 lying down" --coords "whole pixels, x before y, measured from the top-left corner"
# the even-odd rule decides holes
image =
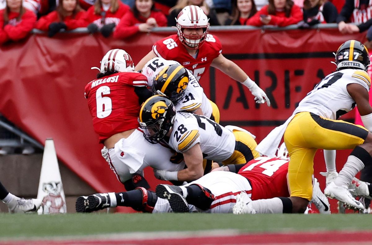
[[[108,207],[131,207],[134,210],[152,213],[157,196],[154,192],[143,187],[132,191],[96,193],[89,196],[80,196],[76,200],[76,211],[78,213],[90,213]]]

